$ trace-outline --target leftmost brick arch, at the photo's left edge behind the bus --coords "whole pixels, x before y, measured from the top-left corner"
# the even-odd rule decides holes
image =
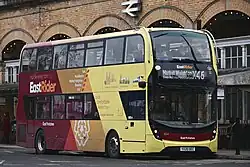
[[[26,43],[34,43],[36,42],[32,35],[24,29],[13,29],[7,32],[2,39],[0,40],[0,53],[2,53],[5,46],[7,46],[11,41],[21,40]],[[2,55],[0,56],[0,60],[2,60]]]

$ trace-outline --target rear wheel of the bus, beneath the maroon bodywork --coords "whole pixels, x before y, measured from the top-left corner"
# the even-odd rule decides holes
[[[46,152],[46,142],[42,130],[39,130],[36,134],[35,149],[37,154],[44,154]]]

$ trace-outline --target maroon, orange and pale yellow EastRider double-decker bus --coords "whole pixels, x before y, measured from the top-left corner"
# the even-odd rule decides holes
[[[17,145],[36,153],[215,153],[210,33],[144,28],[27,44]]]

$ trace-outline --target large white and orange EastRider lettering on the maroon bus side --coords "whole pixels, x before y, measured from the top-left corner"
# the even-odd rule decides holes
[[[30,82],[30,93],[52,93],[56,91],[56,83],[44,80],[39,83]]]

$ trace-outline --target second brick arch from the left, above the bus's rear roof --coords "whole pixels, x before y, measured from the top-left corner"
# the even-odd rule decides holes
[[[46,28],[43,33],[39,36],[38,42],[47,41],[50,37],[55,34],[66,34],[71,38],[80,37],[81,34],[77,31],[75,27],[65,22],[58,22],[50,25]]]

